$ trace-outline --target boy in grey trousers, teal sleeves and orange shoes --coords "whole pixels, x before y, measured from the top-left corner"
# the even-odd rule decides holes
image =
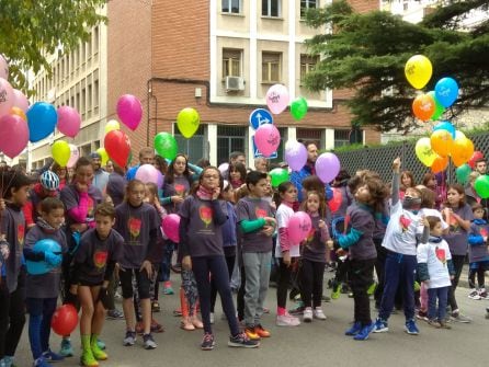
[[[276,221],[272,217],[266,194],[266,173],[251,171],[247,175],[249,195],[238,202],[238,227],[242,233],[242,262],[244,267],[244,324],[251,340],[270,336],[261,325],[263,302],[269,289],[272,261],[272,236]]]

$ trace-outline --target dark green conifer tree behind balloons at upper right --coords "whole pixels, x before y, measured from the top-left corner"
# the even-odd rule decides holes
[[[454,118],[468,108],[489,102],[489,16],[477,26],[463,30],[463,21],[475,10],[488,11],[487,0],[444,1],[420,24],[405,22],[384,11],[355,13],[345,0],[310,10],[307,22],[333,32],[307,41],[309,53],[321,61],[306,78],[306,85],[319,91],[352,89],[346,101],[353,125],[371,125],[382,131],[409,131],[417,126],[411,112],[416,91],[405,78],[406,61],[425,55],[433,76],[425,91],[437,80],[452,77],[462,93],[445,112]],[[386,91],[393,93],[386,93]]]

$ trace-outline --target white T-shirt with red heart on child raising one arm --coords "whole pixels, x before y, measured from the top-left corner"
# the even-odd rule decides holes
[[[390,208],[390,219],[382,245],[403,255],[416,256],[416,234],[422,234],[423,229],[421,217],[405,210],[399,200]]]

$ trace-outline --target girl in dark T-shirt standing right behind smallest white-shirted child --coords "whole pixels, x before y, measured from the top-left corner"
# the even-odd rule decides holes
[[[470,221],[474,219],[470,206],[465,203],[465,191],[462,185],[452,184],[448,186],[446,202],[443,206],[442,214],[450,226],[448,233],[443,238],[448,243],[455,269],[452,287],[448,290],[448,303],[452,308],[452,318],[455,321],[467,323],[471,320],[459,312],[455,299],[455,289],[457,288],[458,279],[460,278],[462,269],[464,267],[465,255],[467,254]]]

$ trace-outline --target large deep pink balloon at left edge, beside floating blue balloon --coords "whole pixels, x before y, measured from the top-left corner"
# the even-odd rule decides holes
[[[27,124],[18,115],[4,115],[0,117],[0,151],[14,158],[27,146]]]

